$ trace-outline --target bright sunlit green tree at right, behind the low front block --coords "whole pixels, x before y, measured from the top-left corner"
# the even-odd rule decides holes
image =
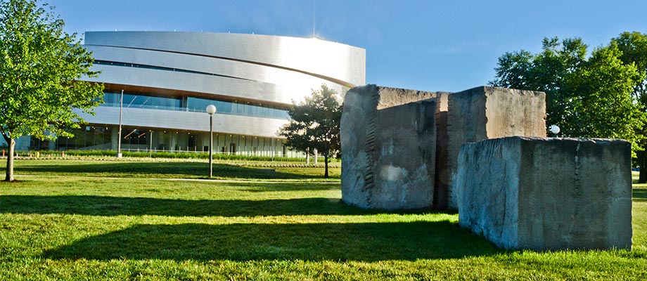
[[[638,131],[645,115],[632,96],[634,85],[641,80],[635,65],[620,60],[622,52],[615,44],[598,48],[585,67],[570,77],[572,89],[570,110],[565,121],[573,136],[624,138],[635,147],[643,136]]]

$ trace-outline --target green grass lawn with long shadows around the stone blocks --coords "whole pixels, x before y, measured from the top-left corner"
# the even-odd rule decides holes
[[[206,168],[19,160],[0,183],[0,280],[647,280],[647,185],[633,251],[503,251],[453,213],[341,204],[339,168]]]

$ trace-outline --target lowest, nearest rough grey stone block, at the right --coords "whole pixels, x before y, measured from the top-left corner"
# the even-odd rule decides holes
[[[631,249],[631,145],[508,137],[461,148],[459,223],[506,249]]]

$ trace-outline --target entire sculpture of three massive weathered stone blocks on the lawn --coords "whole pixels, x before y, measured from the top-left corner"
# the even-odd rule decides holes
[[[361,86],[341,121],[342,200],[459,209],[506,249],[631,249],[631,145],[545,138],[546,94]]]

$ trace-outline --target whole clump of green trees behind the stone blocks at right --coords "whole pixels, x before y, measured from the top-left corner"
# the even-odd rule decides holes
[[[646,115],[632,91],[643,74],[622,61],[619,44],[612,41],[587,58],[587,45],[579,38],[543,43],[536,55],[501,55],[490,84],[546,92],[546,122],[560,126],[562,136],[624,138],[640,150]]]

